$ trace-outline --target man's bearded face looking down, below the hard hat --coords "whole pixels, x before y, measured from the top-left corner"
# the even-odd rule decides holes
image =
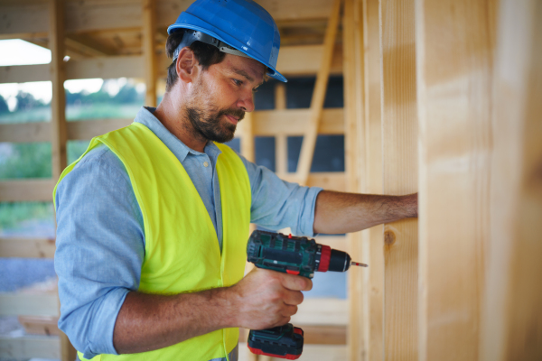
[[[195,134],[229,142],[245,112],[254,110],[254,90],[263,82],[265,66],[257,60],[226,54],[193,82],[186,112]]]

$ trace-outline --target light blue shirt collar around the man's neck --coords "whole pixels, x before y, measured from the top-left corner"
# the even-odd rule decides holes
[[[207,142],[205,148],[203,149],[203,153],[194,151],[192,148],[188,147],[188,145],[182,143],[179,138],[177,138],[169,130],[167,130],[167,128],[162,124],[162,122],[160,122],[160,120],[158,120],[158,118],[154,116],[154,110],[156,110],[155,107],[142,106],[137,112],[134,122],[140,123],[149,128],[151,132],[153,132],[158,137],[158,139],[160,139],[165,144],[165,146],[167,146],[169,150],[172,151],[172,153],[177,157],[180,162],[184,162],[188,153],[192,153],[194,155],[200,155],[205,153],[215,159],[219,156],[219,154],[221,153],[220,149],[213,142]]]

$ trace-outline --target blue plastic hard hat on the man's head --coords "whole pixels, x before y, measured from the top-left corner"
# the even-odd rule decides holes
[[[276,23],[266,9],[252,0],[196,0],[167,28],[167,33],[172,34],[178,29],[193,30],[192,41],[211,43],[220,51],[233,54],[236,52],[228,51],[227,48],[241,51],[238,55],[245,54],[266,65],[269,77],[287,81],[276,71],[280,48]],[[201,32],[216,41],[208,41],[212,38]],[[183,38],[181,45],[187,46],[190,43],[186,43]],[[220,47],[217,43],[229,46]]]

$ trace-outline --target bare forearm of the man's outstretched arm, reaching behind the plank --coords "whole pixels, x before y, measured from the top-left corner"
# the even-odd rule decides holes
[[[322,190],[316,199],[314,232],[356,232],[381,223],[417,217],[417,193],[406,196]]]

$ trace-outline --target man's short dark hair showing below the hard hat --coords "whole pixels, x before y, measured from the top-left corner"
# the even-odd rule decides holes
[[[173,52],[179,44],[182,42],[182,35],[184,34],[183,30],[173,32],[167,37],[167,42],[165,42],[165,53],[168,58],[173,58]],[[203,70],[209,69],[213,64],[218,64],[220,61],[224,60],[226,57],[225,52],[219,51],[219,49],[205,42],[192,42],[192,45],[189,48],[194,52],[194,57],[201,64]],[[175,67],[177,60],[173,61],[170,66],[167,68],[167,80],[165,82],[165,91],[170,91],[173,85],[179,79],[177,75],[177,69]]]

